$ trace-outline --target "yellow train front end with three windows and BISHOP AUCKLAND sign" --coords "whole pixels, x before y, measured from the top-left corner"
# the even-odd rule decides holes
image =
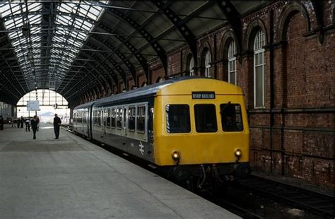
[[[249,174],[249,127],[242,89],[194,78],[165,86],[154,103],[155,164],[175,179]]]

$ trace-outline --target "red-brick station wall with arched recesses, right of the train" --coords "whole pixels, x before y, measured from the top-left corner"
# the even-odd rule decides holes
[[[324,2],[326,26],[334,25],[332,7],[330,2]],[[310,2],[277,2],[242,18],[244,51],[237,61],[237,85],[243,88],[249,109],[252,167],[333,187],[335,31],[334,27],[329,28],[331,30],[324,35],[321,44],[318,35],[313,32],[318,25],[313,10]],[[266,44],[269,45],[270,11],[274,16],[274,99],[271,100],[270,96],[271,61],[268,47],[264,53],[266,107],[254,109],[253,55],[247,51],[252,45],[246,45],[253,39],[248,39],[247,33],[254,23],[261,24],[259,27],[264,28]],[[283,17],[286,12],[287,16]],[[306,20],[308,18],[310,20]],[[280,27],[283,23],[285,29]],[[216,78],[220,80],[228,78],[221,39],[229,31],[231,28],[227,25],[197,41],[198,66],[201,66],[203,49],[210,49],[215,63],[211,66],[211,73],[216,73]],[[167,55],[167,75],[187,69],[185,61],[189,51],[187,47],[180,49]],[[154,74],[153,79],[158,77]],[[159,76],[162,74],[158,71]],[[271,117],[274,121],[272,126]]]

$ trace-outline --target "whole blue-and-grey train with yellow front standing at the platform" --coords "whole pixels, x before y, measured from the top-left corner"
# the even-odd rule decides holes
[[[74,108],[74,131],[151,162],[178,180],[249,174],[242,89],[175,78]],[[199,178],[201,178],[199,180]]]

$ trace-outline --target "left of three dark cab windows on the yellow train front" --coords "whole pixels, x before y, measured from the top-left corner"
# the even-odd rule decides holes
[[[189,133],[189,105],[166,105],[167,133]]]

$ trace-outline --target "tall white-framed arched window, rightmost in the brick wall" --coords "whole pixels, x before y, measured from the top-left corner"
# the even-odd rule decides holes
[[[265,35],[262,30],[254,38],[254,107],[265,107]]]

